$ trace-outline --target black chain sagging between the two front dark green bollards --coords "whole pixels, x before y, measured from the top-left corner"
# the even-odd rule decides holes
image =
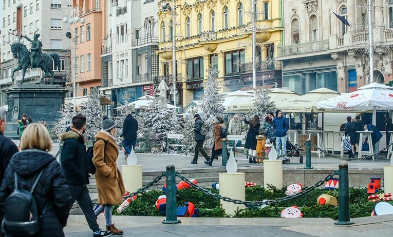
[[[226,202],[231,202],[231,203],[235,203],[235,204],[243,204],[246,206],[261,206],[261,205],[271,205],[271,204],[276,204],[276,203],[280,203],[280,202],[284,202],[284,201],[288,201],[294,198],[297,198],[298,196],[302,196],[312,190],[314,190],[315,188],[323,185],[326,181],[330,180],[334,175],[337,174],[337,171],[334,171],[333,173],[329,174],[328,176],[325,177],[325,179],[317,182],[315,185],[306,188],[305,190],[302,190],[302,192],[297,193],[293,196],[286,196],[284,198],[278,198],[275,200],[268,200],[268,201],[256,201],[256,202],[251,202],[251,201],[240,201],[240,200],[236,200],[236,199],[230,199],[230,198],[226,198],[224,196],[221,196],[219,194],[213,193],[207,189],[201,188],[198,185],[192,183],[191,181],[188,180],[188,178],[184,177],[183,175],[179,174],[178,172],[176,172],[176,176],[178,176],[182,181],[188,183],[191,187],[203,192],[204,194],[207,194],[209,196],[212,196],[215,199],[221,199],[223,201]]]

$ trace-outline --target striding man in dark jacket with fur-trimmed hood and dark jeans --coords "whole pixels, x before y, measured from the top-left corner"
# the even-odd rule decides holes
[[[59,135],[59,140],[63,141],[60,161],[72,200],[77,200],[90,229],[93,231],[93,236],[110,236],[113,234],[112,231],[101,230],[97,224],[89,190],[86,186],[89,184],[89,175],[86,166],[85,139],[82,135],[86,130],[86,117],[82,114],[74,116],[69,129]]]

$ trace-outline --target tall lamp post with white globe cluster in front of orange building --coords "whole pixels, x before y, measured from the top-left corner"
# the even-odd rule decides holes
[[[75,6],[72,7],[71,5],[67,5],[67,12],[66,15],[63,18],[63,22],[64,23],[68,23],[70,25],[74,25],[76,23],[81,23],[81,24],[85,24],[86,20],[84,17],[81,17],[84,14],[84,10],[82,7],[79,6]],[[74,33],[75,33],[75,27],[73,27],[74,29]],[[71,38],[71,33],[66,34],[66,36],[68,38]],[[73,70],[72,70],[72,88],[73,88],[73,92],[72,92],[72,96],[73,96],[73,112],[76,112],[76,94],[77,94],[77,83],[76,83],[76,68],[77,65],[75,64],[75,60],[76,60],[76,45],[77,45],[77,40],[78,40],[78,35],[74,35],[72,41],[72,57],[73,57]]]

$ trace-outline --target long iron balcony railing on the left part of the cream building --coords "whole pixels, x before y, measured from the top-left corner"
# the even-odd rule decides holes
[[[278,56],[289,56],[294,54],[311,53],[325,51],[329,49],[329,39],[323,41],[313,41],[303,44],[295,44],[278,47]]]

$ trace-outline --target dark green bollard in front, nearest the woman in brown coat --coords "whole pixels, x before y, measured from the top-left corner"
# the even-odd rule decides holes
[[[176,205],[176,171],[174,165],[166,166],[166,215],[163,224],[177,224],[177,205]]]

